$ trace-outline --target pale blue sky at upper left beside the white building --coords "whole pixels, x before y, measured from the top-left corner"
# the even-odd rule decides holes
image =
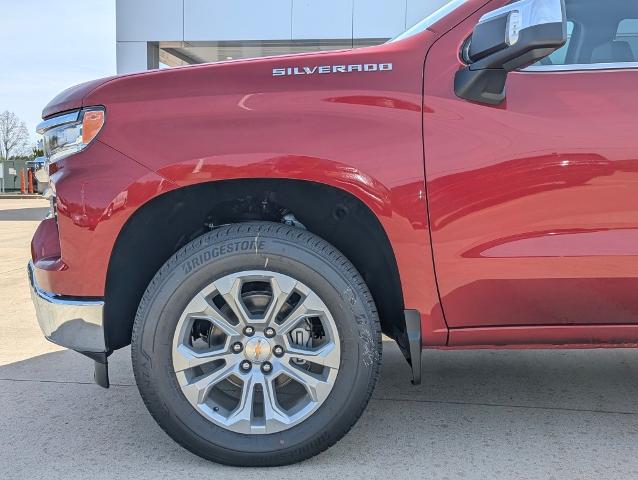
[[[78,83],[115,74],[115,0],[0,0],[0,112],[35,143],[42,108]]]

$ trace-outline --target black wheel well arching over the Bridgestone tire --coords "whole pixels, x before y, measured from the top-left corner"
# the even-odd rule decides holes
[[[308,181],[225,180],[168,192],[128,220],[106,277],[104,324],[109,348],[130,343],[142,295],[171,255],[210,228],[255,220],[288,220],[333,244],[370,288],[383,332],[396,338],[405,330],[394,253],[383,227],[363,202],[343,190]]]

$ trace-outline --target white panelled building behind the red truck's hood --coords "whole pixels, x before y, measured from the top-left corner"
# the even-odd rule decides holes
[[[117,0],[117,71],[386,41],[449,0]]]

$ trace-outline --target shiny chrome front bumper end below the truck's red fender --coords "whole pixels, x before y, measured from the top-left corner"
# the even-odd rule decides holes
[[[33,269],[33,263],[29,262],[31,299],[47,340],[92,358],[106,353],[104,302],[45,292],[38,286]]]

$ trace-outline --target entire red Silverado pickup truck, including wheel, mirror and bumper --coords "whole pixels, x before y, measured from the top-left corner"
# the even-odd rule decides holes
[[[386,44],[89,82],[43,112],[29,275],[51,341],[132,345],[177,442],[338,441],[381,333],[638,345],[638,2],[454,0]]]

